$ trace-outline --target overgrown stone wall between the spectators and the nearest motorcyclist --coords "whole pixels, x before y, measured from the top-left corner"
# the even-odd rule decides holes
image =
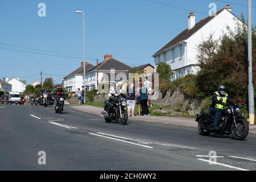
[[[152,100],[151,103],[154,105],[169,106],[171,109],[187,112],[190,115],[199,114],[201,111],[201,101],[185,98],[179,89],[175,90],[173,94],[168,90],[163,99],[160,93],[158,100]]]

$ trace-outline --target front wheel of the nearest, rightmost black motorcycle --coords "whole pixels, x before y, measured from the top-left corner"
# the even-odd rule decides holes
[[[249,133],[249,124],[245,119],[236,119],[237,127],[233,123],[231,126],[232,137],[236,140],[243,140]]]

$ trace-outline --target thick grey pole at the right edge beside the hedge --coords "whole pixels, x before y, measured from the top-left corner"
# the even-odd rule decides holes
[[[248,0],[248,101],[249,101],[249,123],[254,125],[254,88],[253,88],[253,56],[251,43],[251,0]]]

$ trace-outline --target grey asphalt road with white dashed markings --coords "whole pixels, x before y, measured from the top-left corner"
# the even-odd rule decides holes
[[[45,165],[38,163],[39,151],[46,154]],[[210,151],[217,157],[210,158]],[[238,141],[203,137],[187,127],[133,121],[122,126],[67,106],[63,114],[43,106],[0,108],[0,170],[244,169],[256,169],[254,134]]]

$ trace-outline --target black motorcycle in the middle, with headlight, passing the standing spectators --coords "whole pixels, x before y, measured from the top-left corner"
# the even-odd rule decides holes
[[[126,125],[128,120],[128,114],[125,110],[126,100],[127,96],[121,93],[118,96],[112,94],[110,101],[105,101],[104,111],[102,111],[101,114],[104,115],[107,123],[117,121],[121,123],[121,125]],[[113,104],[113,108],[110,114],[108,114],[110,104]]]

